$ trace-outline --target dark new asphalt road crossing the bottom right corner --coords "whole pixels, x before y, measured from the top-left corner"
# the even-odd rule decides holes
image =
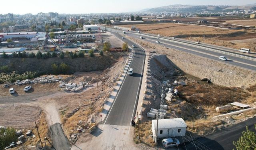
[[[233,141],[237,141],[242,132],[246,130],[246,126],[250,131],[255,131],[254,124],[256,123],[256,117],[250,118],[244,122],[240,122],[236,125],[224,128],[214,134],[210,134],[205,137],[198,138],[196,142],[196,147],[194,144],[187,143],[187,150],[232,150],[235,149]],[[183,146],[185,149],[185,146]]]

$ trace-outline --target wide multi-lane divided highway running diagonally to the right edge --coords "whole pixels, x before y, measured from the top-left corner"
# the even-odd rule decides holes
[[[110,29],[108,28],[108,30],[111,31],[115,31],[115,32],[119,32],[122,33],[121,30],[114,30],[114,29]],[[243,68],[246,70],[250,70],[253,72],[256,72],[256,58],[255,56],[248,56],[246,54],[243,53],[237,53],[237,52],[231,52],[225,48],[221,49],[221,47],[219,46],[209,46],[209,44],[207,44],[207,47],[210,48],[215,48],[215,50],[209,50],[207,49],[207,47],[203,47],[206,46],[205,44],[192,44],[191,43],[183,43],[181,41],[176,42],[177,39],[175,40],[168,40],[168,39],[164,39],[161,37],[157,37],[157,36],[147,36],[146,34],[138,34],[136,32],[126,32],[125,34],[126,36],[131,36],[137,39],[140,39],[140,35],[143,35],[145,41],[150,42],[152,44],[158,44],[156,43],[156,41],[159,41],[159,45],[164,45],[167,48],[173,48],[176,50],[181,50],[184,52],[188,52],[191,54],[195,54],[198,56],[202,56],[205,58],[210,58],[212,60],[216,60],[218,62],[224,63],[224,64],[228,64],[231,66],[236,66],[239,68]],[[160,38],[160,39],[158,39]],[[142,39],[141,39],[142,40]],[[196,47],[196,46],[200,46],[200,47]],[[252,54],[254,55],[254,54]],[[228,58],[228,61],[223,61],[219,59],[219,56],[226,56],[226,58]]]

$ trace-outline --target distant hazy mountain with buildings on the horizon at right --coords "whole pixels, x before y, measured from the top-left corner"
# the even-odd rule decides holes
[[[192,6],[192,5],[168,5],[162,7],[156,7],[151,9],[140,10],[140,12],[181,12],[181,13],[188,13],[188,12],[220,12],[223,10],[230,10],[230,9],[250,9],[252,8],[253,4],[250,6],[212,6],[212,5],[199,5],[199,6]]]

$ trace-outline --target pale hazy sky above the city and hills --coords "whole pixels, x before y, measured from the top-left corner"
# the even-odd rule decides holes
[[[1,0],[0,14],[37,14],[58,12],[60,14],[86,14],[132,12],[145,8],[170,4],[190,5],[245,5],[255,0]]]

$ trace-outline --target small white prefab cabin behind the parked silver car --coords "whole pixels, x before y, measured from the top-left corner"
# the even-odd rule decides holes
[[[152,120],[152,133],[154,139],[156,137],[156,122],[157,120]],[[182,118],[159,119],[157,137],[168,138],[176,136],[185,136],[186,128],[187,125]]]

